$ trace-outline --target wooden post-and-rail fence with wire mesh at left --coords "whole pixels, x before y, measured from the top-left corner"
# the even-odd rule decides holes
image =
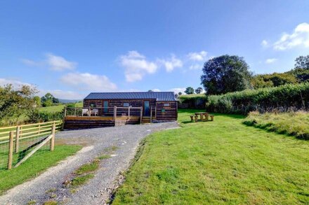
[[[42,122],[14,127],[0,127],[0,170],[18,165],[29,153],[40,155],[51,150],[42,143],[51,136],[53,127],[61,129],[62,121]],[[51,140],[49,140],[51,141]]]

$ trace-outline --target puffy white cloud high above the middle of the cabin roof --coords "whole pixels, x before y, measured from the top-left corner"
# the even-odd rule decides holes
[[[127,82],[142,80],[146,73],[155,73],[158,68],[155,62],[147,61],[146,57],[136,50],[121,55],[120,64],[125,68],[124,74]]]

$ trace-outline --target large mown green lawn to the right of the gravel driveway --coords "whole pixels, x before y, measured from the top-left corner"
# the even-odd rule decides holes
[[[114,204],[309,204],[309,141],[194,112],[147,136]]]

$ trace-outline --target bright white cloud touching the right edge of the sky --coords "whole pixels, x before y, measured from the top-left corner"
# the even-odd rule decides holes
[[[287,50],[295,47],[309,48],[309,24],[298,24],[292,34],[282,34],[280,40],[274,43],[275,50]]]

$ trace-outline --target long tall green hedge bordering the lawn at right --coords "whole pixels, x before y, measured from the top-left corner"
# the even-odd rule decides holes
[[[309,83],[244,90],[206,97],[206,110],[220,113],[308,110]]]

